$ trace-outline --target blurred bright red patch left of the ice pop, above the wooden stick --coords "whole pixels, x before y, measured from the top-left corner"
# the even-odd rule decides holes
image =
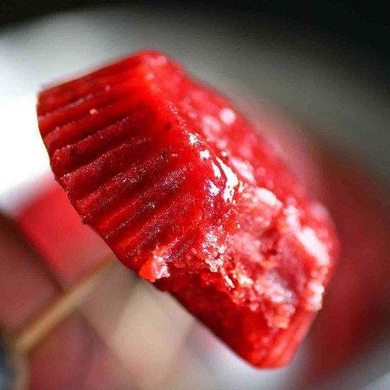
[[[16,222],[63,283],[74,282],[109,252],[104,241],[82,224],[54,179],[48,179],[40,194],[18,212]]]

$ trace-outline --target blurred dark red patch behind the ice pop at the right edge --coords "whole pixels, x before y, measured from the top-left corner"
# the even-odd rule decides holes
[[[313,377],[342,369],[389,325],[389,191],[342,158],[323,158],[318,197],[333,215],[342,256],[313,328]]]

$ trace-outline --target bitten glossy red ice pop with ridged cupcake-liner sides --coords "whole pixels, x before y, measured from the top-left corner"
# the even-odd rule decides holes
[[[291,360],[338,242],[228,100],[141,52],[43,91],[38,122],[58,182],[123,264],[251,364]]]

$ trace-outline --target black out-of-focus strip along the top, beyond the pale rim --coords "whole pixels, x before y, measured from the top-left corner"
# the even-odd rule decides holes
[[[298,28],[302,33],[327,35],[344,48],[371,53],[382,70],[390,60],[390,23],[385,1],[131,1],[131,0],[1,0],[0,26],[56,11],[99,7],[105,4],[201,11],[228,19],[240,28],[255,29],[264,21],[280,28]],[[243,23],[245,22],[245,23]],[[233,26],[232,26],[233,27]],[[385,72],[384,72],[385,73]]]

